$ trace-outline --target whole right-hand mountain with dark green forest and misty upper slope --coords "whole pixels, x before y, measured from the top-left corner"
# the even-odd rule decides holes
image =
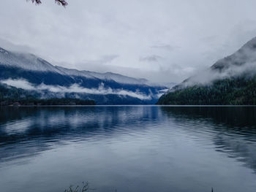
[[[256,37],[210,69],[163,94],[157,104],[256,104]]]

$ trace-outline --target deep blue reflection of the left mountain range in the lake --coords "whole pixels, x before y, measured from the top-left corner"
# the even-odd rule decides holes
[[[36,155],[53,144],[136,134],[141,124],[162,117],[157,107],[6,107],[0,112],[0,161]]]

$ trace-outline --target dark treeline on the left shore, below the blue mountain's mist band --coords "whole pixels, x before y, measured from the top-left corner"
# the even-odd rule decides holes
[[[36,93],[31,94],[20,88],[13,88],[0,84],[0,105],[95,105],[93,100],[72,99],[72,98],[54,98],[38,99]]]

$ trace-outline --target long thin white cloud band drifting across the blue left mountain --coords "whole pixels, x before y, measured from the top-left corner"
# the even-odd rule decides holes
[[[140,100],[150,100],[153,97],[152,94],[146,95],[139,91],[133,92],[123,89],[105,88],[103,83],[100,84],[98,88],[83,88],[77,83],[69,87],[59,85],[45,85],[44,83],[41,83],[40,85],[34,85],[24,79],[7,79],[1,80],[0,82],[13,86],[15,88],[22,88],[28,91],[50,91],[52,93],[88,93],[98,95],[115,94],[118,96],[131,96]]]

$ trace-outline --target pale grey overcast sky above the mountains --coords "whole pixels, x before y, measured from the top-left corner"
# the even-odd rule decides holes
[[[256,37],[255,0],[1,0],[0,47],[54,65],[180,82]]]

